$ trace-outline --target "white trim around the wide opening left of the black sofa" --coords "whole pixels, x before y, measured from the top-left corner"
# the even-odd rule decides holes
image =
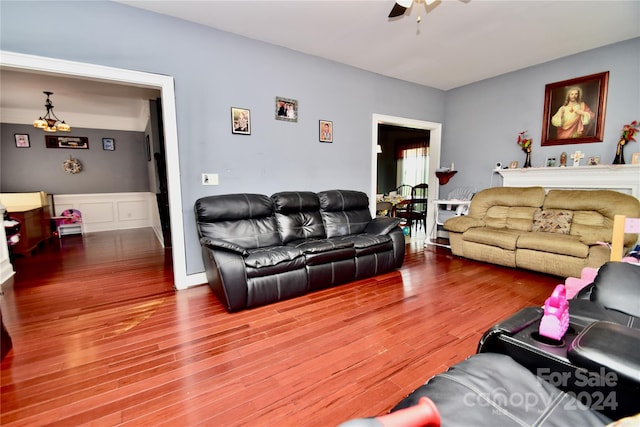
[[[192,285],[205,283],[206,280],[203,280],[203,273],[187,275],[180,161],[178,157],[178,125],[173,77],[8,51],[0,51],[0,65],[22,70],[36,70],[160,89],[167,159],[174,286],[176,289],[185,289]]]

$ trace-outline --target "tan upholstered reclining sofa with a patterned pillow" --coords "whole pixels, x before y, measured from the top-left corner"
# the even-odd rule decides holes
[[[561,277],[609,261],[614,215],[640,217],[640,201],[613,190],[494,187],[478,192],[469,214],[448,219],[454,255]],[[625,246],[637,234],[625,236]]]

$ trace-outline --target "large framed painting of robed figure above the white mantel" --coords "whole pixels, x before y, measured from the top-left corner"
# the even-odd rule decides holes
[[[541,145],[602,142],[609,72],[545,86]]]

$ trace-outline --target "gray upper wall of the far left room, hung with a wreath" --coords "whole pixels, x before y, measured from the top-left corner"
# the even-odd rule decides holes
[[[29,125],[0,125],[0,192],[46,191],[50,194],[149,191],[144,133],[72,128],[58,136],[86,136],[88,149],[46,148],[45,132]],[[30,148],[17,148],[15,133],[29,134]],[[51,135],[51,134],[47,134]],[[115,139],[115,151],[102,149],[102,138]],[[69,174],[62,162],[72,156],[82,172]]]

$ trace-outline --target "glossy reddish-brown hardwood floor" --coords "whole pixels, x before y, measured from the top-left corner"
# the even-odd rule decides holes
[[[388,411],[560,278],[407,245],[394,272],[229,314],[151,229],[53,239],[1,297],[3,426],[335,426]]]

